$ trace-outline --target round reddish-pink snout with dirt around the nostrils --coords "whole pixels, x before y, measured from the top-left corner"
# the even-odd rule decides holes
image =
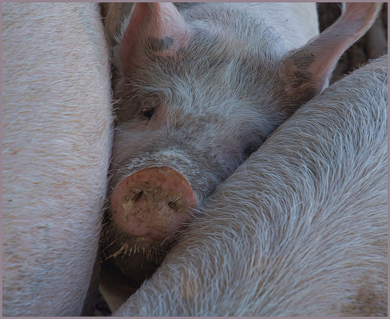
[[[168,166],[138,170],[122,179],[111,196],[112,218],[119,228],[149,239],[171,236],[197,206],[186,177]]]

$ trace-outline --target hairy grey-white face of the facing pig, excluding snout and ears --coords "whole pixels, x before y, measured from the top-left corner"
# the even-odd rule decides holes
[[[167,166],[202,204],[292,112],[280,98],[282,44],[251,19],[233,30],[236,19],[225,28],[218,19],[189,22],[185,45],[149,37],[144,52],[133,52],[138,63],[124,64],[115,92],[112,188],[122,189],[125,177],[146,167]]]

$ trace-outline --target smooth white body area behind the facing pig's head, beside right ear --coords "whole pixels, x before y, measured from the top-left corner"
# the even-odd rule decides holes
[[[227,3],[236,9],[245,10],[267,27],[272,27],[285,44],[285,50],[300,48],[319,34],[318,14],[315,3]]]

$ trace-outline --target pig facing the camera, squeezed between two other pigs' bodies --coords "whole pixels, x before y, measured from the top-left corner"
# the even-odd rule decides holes
[[[379,10],[347,4],[306,43],[313,32],[289,21],[302,14],[291,4],[134,4],[114,48],[108,209],[89,295],[98,282],[112,311],[126,301],[215,187],[328,85]]]

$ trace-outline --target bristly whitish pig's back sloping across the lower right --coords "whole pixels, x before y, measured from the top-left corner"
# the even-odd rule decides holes
[[[113,316],[387,316],[387,56],[217,186]]]

